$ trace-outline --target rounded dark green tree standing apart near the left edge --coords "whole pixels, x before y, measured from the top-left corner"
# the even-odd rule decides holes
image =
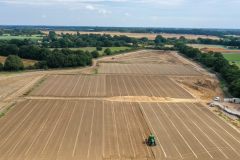
[[[4,69],[7,71],[18,71],[23,70],[24,65],[20,57],[9,55],[5,61]]]

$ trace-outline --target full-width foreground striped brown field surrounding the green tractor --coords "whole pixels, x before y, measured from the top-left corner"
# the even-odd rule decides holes
[[[240,158],[239,132],[195,103],[27,100],[0,125],[1,160]]]

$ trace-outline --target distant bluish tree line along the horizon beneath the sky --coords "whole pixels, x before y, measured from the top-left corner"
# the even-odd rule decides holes
[[[1,26],[0,26],[1,28]],[[173,33],[198,35],[240,35],[239,29],[207,29],[207,28],[151,28],[151,27],[92,27],[92,26],[2,26],[4,29],[32,29],[32,30],[67,30],[67,31],[114,31],[132,33]]]

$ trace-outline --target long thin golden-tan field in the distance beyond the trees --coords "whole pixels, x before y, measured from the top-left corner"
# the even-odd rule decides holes
[[[48,34],[49,31],[42,31],[45,34]],[[56,31],[57,34],[77,34],[77,31]],[[193,34],[170,34],[170,33],[127,33],[127,32],[79,32],[80,34],[110,34],[112,36],[126,35],[133,38],[143,38],[147,37],[150,40],[154,40],[157,35],[162,35],[165,38],[180,38],[184,36],[187,39],[198,39],[198,38],[209,38],[209,39],[220,39],[216,36],[207,36],[207,35],[193,35]]]

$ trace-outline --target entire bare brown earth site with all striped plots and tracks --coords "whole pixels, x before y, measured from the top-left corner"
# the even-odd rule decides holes
[[[206,105],[218,80],[176,52],[23,76],[0,77],[0,160],[240,159],[239,127]]]

